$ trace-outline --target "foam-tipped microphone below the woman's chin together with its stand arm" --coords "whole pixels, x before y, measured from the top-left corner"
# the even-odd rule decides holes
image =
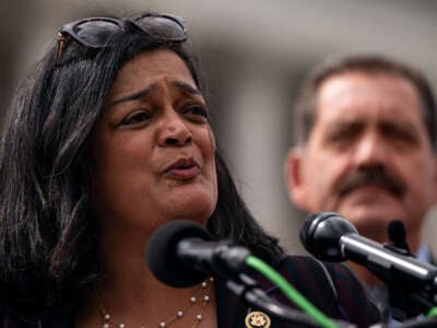
[[[258,288],[256,281],[244,273],[248,268],[248,257],[251,255],[247,248],[228,239],[215,242],[205,229],[188,220],[176,220],[160,226],[151,236],[145,251],[151,271],[165,284],[174,288],[196,285],[212,272],[222,278],[227,289],[250,306],[264,311],[281,321],[320,327],[321,317],[316,320],[290,308]],[[314,312],[312,309],[312,316]],[[349,323],[335,323],[339,327],[351,327]]]

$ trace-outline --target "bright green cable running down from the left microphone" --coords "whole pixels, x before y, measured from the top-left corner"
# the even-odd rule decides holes
[[[321,327],[336,328],[338,326],[308,300],[306,300],[294,286],[292,286],[276,270],[256,256],[249,255],[246,265],[256,269],[273,282],[293,303],[315,319]]]

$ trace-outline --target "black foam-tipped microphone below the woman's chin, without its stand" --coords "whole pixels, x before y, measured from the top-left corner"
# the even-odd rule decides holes
[[[210,273],[237,277],[249,250],[231,241],[213,241],[201,225],[176,220],[160,226],[146,245],[145,260],[161,282],[174,288],[196,285]]]

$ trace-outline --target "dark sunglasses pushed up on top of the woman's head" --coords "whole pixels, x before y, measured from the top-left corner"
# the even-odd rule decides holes
[[[68,23],[58,31],[58,50],[56,63],[62,56],[66,36],[72,37],[81,45],[94,49],[110,46],[111,37],[131,23],[150,35],[158,35],[166,42],[185,42],[188,38],[187,26],[181,17],[170,14],[144,14],[129,19],[90,17]]]

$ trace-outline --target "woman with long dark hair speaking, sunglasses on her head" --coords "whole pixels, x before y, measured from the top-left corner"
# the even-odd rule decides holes
[[[286,256],[252,219],[187,38],[156,13],[69,23],[17,90],[0,162],[1,327],[244,327],[218,279],[175,289],[151,273],[144,245],[178,219],[248,247],[327,315],[379,320],[347,269]]]

